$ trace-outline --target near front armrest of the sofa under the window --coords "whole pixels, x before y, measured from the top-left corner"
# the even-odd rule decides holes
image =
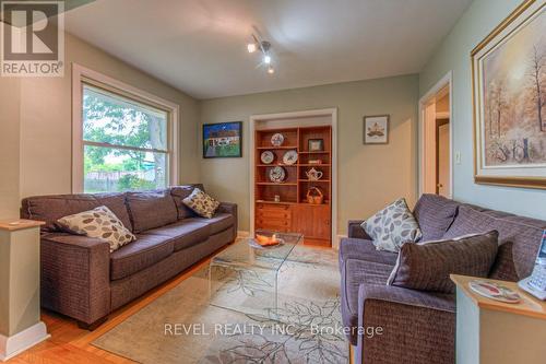
[[[110,312],[110,246],[70,234],[45,234],[40,244],[41,305],[91,325]]]

